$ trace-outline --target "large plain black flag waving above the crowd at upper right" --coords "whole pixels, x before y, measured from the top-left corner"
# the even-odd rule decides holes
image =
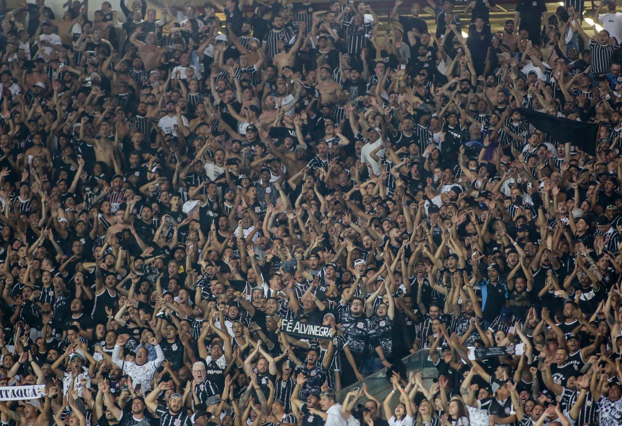
[[[555,117],[526,108],[519,108],[518,112],[536,129],[542,130],[542,132],[550,135],[557,142],[570,142],[588,155],[596,155],[598,123],[569,120],[564,117]]]

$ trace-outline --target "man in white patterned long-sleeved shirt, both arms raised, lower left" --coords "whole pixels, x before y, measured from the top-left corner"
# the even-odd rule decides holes
[[[151,390],[151,380],[154,378],[157,369],[160,368],[160,365],[162,365],[165,360],[164,352],[162,351],[162,348],[156,338],[152,337],[149,339],[149,343],[156,348],[156,360],[147,361],[149,359],[149,350],[147,350],[147,348],[138,348],[136,350],[136,360],[134,362],[125,361],[119,358],[121,343],[124,343],[124,340],[121,336],[119,336],[116,344],[114,345],[112,356],[113,363],[123,369],[123,371],[132,378],[134,386],[140,384],[142,394],[146,395],[147,392]],[[164,382],[160,383],[160,385],[163,383]],[[152,394],[153,392],[150,395]]]

